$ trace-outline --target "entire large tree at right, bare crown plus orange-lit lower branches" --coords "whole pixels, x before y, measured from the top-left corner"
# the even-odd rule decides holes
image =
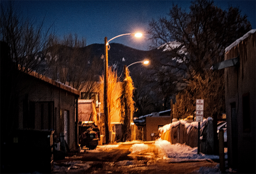
[[[149,33],[154,45],[160,46],[165,54],[162,63],[167,71],[177,69],[188,84],[180,93],[183,96],[176,97],[180,106],[176,111],[192,113],[195,99],[204,97],[209,106],[205,110],[211,110],[207,116],[212,116],[225,111],[225,92],[224,84],[220,83],[224,81],[223,71],[212,72],[210,67],[224,60],[224,49],[251,30],[251,24],[238,8],[223,11],[213,1],[192,1],[189,8],[187,12],[173,4],[168,17],[152,20]],[[175,64],[171,63],[173,60]]]

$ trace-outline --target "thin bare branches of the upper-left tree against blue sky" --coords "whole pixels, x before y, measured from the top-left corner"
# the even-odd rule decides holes
[[[51,27],[44,33],[43,24],[44,21],[36,25],[35,21],[23,17],[12,1],[1,5],[1,41],[10,46],[11,60],[16,67],[23,67],[23,71],[37,71],[52,45]]]

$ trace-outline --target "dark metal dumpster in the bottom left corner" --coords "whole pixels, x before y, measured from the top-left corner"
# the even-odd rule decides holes
[[[49,130],[17,130],[13,137],[15,172],[51,173],[53,170],[53,133]],[[17,166],[18,165],[18,166]]]

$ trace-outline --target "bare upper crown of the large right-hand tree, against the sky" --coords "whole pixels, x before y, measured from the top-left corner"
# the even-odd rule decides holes
[[[246,18],[238,8],[223,11],[213,1],[198,0],[192,1],[189,13],[173,4],[169,18],[152,20],[149,33],[188,72],[203,72],[224,60],[223,50],[251,30]]]

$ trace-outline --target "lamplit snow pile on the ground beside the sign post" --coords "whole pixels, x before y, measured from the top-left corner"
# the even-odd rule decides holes
[[[197,147],[190,147],[185,144],[171,144],[169,141],[158,139],[155,145],[164,152],[165,157],[172,162],[182,162],[188,160],[208,160],[219,159],[218,155],[197,154]]]

